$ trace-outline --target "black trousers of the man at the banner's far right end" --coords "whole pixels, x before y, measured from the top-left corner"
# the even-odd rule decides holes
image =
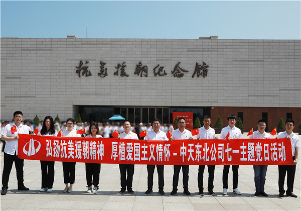
[[[292,158],[294,160],[294,157]],[[287,172],[287,178],[286,178],[286,184],[287,184],[287,190],[286,193],[291,193],[293,191],[293,181],[294,181],[294,175],[296,172],[296,165],[278,165],[278,187],[279,187],[279,193],[284,193],[284,179],[285,174]]]

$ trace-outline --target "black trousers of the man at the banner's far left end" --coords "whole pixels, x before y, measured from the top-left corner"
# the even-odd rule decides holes
[[[17,180],[18,180],[18,187],[24,186],[24,179],[23,179],[23,166],[24,166],[24,160],[18,158],[16,155],[10,155],[7,153],[4,153],[4,165],[3,165],[3,173],[2,173],[2,188],[9,188],[9,179],[11,170],[13,167],[13,163],[15,161],[15,167],[17,172]]]

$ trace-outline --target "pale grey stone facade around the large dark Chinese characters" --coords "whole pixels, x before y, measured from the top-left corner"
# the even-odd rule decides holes
[[[65,120],[78,105],[300,108],[300,58],[300,40],[2,38],[1,119]],[[92,76],[78,77],[80,60]],[[134,75],[139,61],[147,78]],[[171,74],[178,61],[182,78]],[[208,76],[192,78],[203,61]],[[113,75],[122,62],[128,77]],[[158,64],[167,75],[154,76]]]

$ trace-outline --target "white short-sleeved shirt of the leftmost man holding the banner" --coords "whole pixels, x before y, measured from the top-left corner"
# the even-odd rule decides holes
[[[15,137],[18,134],[29,134],[29,132],[31,131],[30,127],[28,127],[27,125],[20,124],[19,127],[16,126],[17,132],[12,134],[11,128],[14,126],[16,126],[15,123],[6,125],[1,135],[7,137]],[[10,155],[15,155],[16,152],[16,155],[18,155],[18,140],[5,141],[5,142],[6,144],[5,144],[4,152]]]

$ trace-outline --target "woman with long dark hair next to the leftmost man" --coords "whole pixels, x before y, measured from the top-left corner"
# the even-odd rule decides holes
[[[58,132],[54,128],[54,122],[51,116],[44,119],[44,124],[40,131],[40,136],[57,136]],[[42,187],[40,192],[51,192],[54,181],[54,161],[41,160]]]

